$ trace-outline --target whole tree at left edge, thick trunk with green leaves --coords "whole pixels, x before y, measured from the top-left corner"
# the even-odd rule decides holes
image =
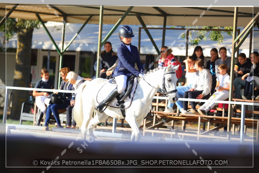
[[[40,22],[35,20],[7,18],[5,24],[0,26],[4,33],[3,37],[7,42],[17,35],[16,64],[14,69],[14,84],[17,87],[29,87],[30,68],[31,68],[31,43],[33,30],[40,27]],[[5,44],[5,41],[3,42]],[[21,106],[27,102],[29,97],[28,91],[12,91],[12,109],[9,118],[19,119]]]

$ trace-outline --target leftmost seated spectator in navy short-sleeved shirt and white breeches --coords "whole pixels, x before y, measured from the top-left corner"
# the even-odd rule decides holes
[[[35,88],[52,89],[53,81],[49,79],[49,72],[46,68],[41,69],[41,77],[42,79],[36,83]],[[40,125],[41,119],[43,118],[43,115],[46,112],[47,108],[45,105],[49,104],[49,94],[51,94],[51,92],[33,91],[33,96],[35,97],[35,104],[39,108],[36,123],[37,126]]]

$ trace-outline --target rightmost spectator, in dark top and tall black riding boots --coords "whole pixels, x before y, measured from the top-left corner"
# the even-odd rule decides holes
[[[247,73],[242,76],[242,80],[245,80],[245,93],[242,95],[242,99],[251,100],[254,88],[259,84],[259,54],[258,52],[253,52],[250,54],[251,57],[251,70],[250,73]]]

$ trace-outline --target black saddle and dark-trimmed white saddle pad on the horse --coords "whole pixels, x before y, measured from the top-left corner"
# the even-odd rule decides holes
[[[107,106],[110,106],[113,108],[122,108],[124,106],[123,109],[129,108],[132,103],[133,96],[137,88],[137,84],[138,84],[138,77],[136,77],[135,75],[129,76],[127,78],[125,91],[117,95],[116,99],[113,99],[110,103],[107,104]],[[100,102],[102,102],[107,97],[107,93],[110,93],[116,87],[117,87],[117,84],[116,84],[115,78],[108,80],[108,82],[106,82],[97,93],[97,96],[96,96],[97,103],[99,104]]]

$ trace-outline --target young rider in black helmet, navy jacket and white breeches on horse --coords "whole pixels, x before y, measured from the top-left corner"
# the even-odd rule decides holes
[[[144,67],[140,61],[138,48],[131,44],[133,34],[132,28],[128,25],[123,25],[118,29],[118,35],[121,40],[121,45],[117,49],[119,58],[118,65],[113,72],[113,77],[116,80],[117,87],[95,108],[102,112],[105,105],[113,100],[118,94],[126,89],[127,78],[132,74],[144,78]],[[135,69],[135,63],[140,71]]]

